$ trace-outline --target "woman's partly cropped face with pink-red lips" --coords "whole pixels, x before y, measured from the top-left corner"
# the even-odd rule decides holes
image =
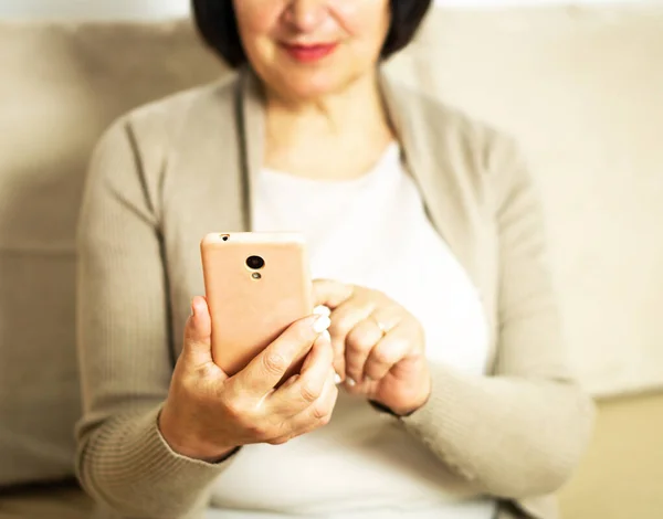
[[[341,91],[372,73],[391,23],[389,0],[234,0],[251,65],[295,99]]]

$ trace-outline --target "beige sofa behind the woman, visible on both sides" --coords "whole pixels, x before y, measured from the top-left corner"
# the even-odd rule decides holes
[[[0,519],[87,518],[73,426],[75,225],[130,108],[230,74],[187,20],[0,21]],[[570,359],[597,399],[565,519],[663,517],[663,8],[436,9],[388,73],[515,135]]]

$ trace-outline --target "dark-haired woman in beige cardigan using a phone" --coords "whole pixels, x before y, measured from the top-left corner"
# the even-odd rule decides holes
[[[238,76],[103,138],[80,227],[77,434],[109,517],[557,517],[546,496],[592,407],[529,177],[508,140],[380,72],[429,7],[196,0]],[[241,230],[303,232],[332,314],[229,378],[190,297],[199,240]]]

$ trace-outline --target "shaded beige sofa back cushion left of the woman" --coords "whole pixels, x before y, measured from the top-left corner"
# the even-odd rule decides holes
[[[74,233],[92,146],[222,67],[188,25],[0,24],[0,486],[71,475]]]

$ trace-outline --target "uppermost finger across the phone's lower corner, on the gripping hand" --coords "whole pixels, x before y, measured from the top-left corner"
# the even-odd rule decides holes
[[[326,316],[309,316],[291,325],[274,342],[233,377],[240,391],[270,393],[301,357],[311,350],[317,337],[329,327]]]

